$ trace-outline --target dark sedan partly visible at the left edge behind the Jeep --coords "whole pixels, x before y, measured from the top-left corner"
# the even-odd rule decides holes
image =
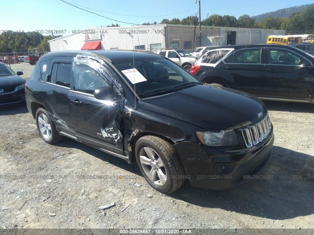
[[[0,63],[0,107],[25,103],[25,83],[22,71],[15,73]]]

